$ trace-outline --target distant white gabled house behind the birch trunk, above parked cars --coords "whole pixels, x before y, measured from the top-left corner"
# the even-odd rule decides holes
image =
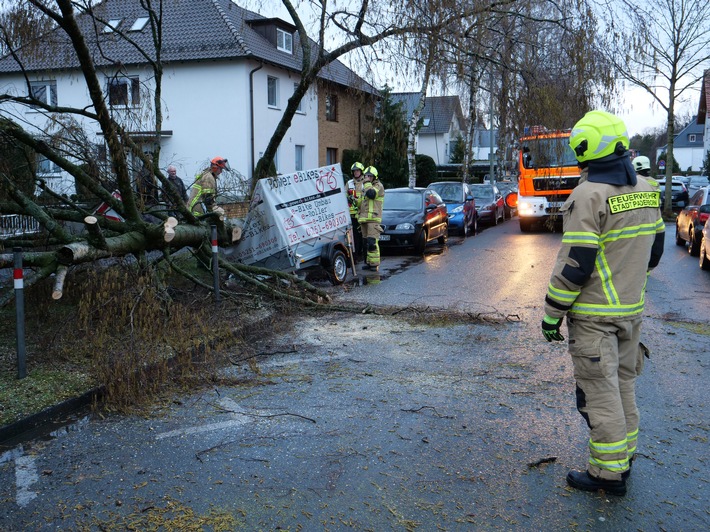
[[[419,102],[418,92],[394,92],[392,102],[401,103],[407,121]],[[448,164],[459,136],[466,137],[466,120],[458,96],[428,96],[420,114],[416,153],[428,155],[437,165]]]

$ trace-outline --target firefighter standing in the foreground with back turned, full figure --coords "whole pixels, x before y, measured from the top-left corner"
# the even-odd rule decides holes
[[[562,207],[562,245],[547,296],[542,333],[564,340],[576,380],[577,410],[590,431],[586,471],[567,483],[624,495],[636,452],[636,377],[648,350],[640,342],[647,277],[663,253],[665,225],[658,188],[638,179],[626,126],[590,111],[570,135],[582,169]]]

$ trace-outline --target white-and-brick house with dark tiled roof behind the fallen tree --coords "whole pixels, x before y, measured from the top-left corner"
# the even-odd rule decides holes
[[[155,131],[155,80],[145,57],[119,38],[129,37],[155,56],[150,24],[139,0],[106,0],[94,7],[100,20],[108,21],[94,31],[95,21],[79,17],[91,41],[93,60],[106,91],[110,112],[142,144],[145,152],[160,146],[160,167],[173,164],[189,186],[212,157],[229,160],[247,180],[252,177],[279,123],[288,100],[300,82],[302,66],[298,32],[290,23],[267,19],[243,9],[231,0],[192,0],[165,4],[162,27],[163,65],[160,111],[162,125]],[[82,108],[90,103],[88,88],[65,35],[57,32],[46,40],[56,51],[33,57],[20,53],[23,77],[11,56],[0,59],[0,92],[26,95],[28,81],[35,97],[63,107]],[[343,84],[350,85],[344,86]],[[320,166],[328,149],[342,154],[357,148],[359,124],[339,97],[340,119],[325,120],[325,96],[358,94],[374,101],[376,91],[339,61],[319,74],[294,116],[276,156],[280,173]],[[360,92],[364,91],[365,95]],[[322,114],[319,116],[319,113]],[[14,103],[0,104],[0,115],[20,117],[34,135],[52,132],[48,117],[37,109]],[[105,147],[100,128],[90,118],[76,119],[86,136],[87,150],[97,160]],[[324,124],[324,132],[320,132]],[[327,143],[324,144],[325,139]],[[332,162],[339,162],[333,160]],[[49,161],[38,160],[37,172],[60,193],[74,192],[73,180]]]

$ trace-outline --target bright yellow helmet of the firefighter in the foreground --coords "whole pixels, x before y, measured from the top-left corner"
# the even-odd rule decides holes
[[[629,134],[619,117],[605,111],[589,111],[572,128],[569,145],[582,163],[629,149]]]

